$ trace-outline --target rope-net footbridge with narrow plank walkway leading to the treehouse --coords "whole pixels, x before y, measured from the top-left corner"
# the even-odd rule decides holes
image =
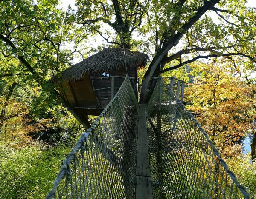
[[[249,198],[162,77],[147,105],[129,77],[64,160],[52,198]]]

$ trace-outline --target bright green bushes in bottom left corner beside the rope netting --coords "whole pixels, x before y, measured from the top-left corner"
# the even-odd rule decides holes
[[[0,198],[45,198],[70,148],[0,144]]]

